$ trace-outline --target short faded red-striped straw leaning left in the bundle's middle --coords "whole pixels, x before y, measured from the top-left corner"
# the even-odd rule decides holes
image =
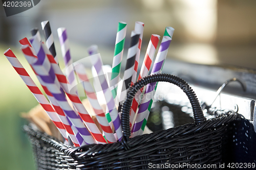
[[[111,130],[108,120],[105,117],[104,111],[99,105],[94,88],[89,82],[89,79],[86,74],[86,70],[84,69],[82,64],[77,64],[74,67],[75,67],[79,82],[82,82],[83,89],[86,92],[87,98],[92,105],[92,108],[96,114],[98,123],[102,131],[104,132],[106,140],[108,140],[109,143],[116,142],[116,138],[113,134],[113,131]]]

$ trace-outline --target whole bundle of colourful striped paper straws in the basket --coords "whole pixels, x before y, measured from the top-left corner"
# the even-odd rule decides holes
[[[86,69],[82,64],[74,64],[72,61],[67,30],[65,28],[57,29],[61,53],[66,67],[66,75],[64,75],[58,65],[49,21],[41,22],[41,26],[46,39],[45,43],[42,42],[38,29],[31,31],[32,37],[30,39],[23,38],[19,42],[22,45],[22,53],[35,72],[48,100],[36,86],[10,48],[5,51],[4,55],[17,71],[18,75],[23,79],[38,103],[48,114],[65,139],[65,142],[72,141],[70,144],[79,147],[84,144],[104,144],[120,141],[122,138],[120,110],[126,97],[126,90],[137,80],[148,75],[160,36],[155,34],[151,36],[140,74],[137,78],[144,23],[135,23],[135,30],[131,33],[131,43],[127,52],[123,79],[120,79],[127,26],[125,22],[119,22],[109,84],[104,76],[103,64],[98,54],[97,46],[93,45],[89,47],[88,53],[91,63],[96,70],[97,79],[100,82],[106,101],[106,109],[103,111],[95,89],[89,81]],[[166,27],[151,75],[161,72],[173,33],[174,29],[172,27]],[[83,89],[95,112],[100,127],[96,126],[92,116],[79,99],[75,75],[79,82],[82,82]],[[122,80],[122,85],[118,85],[120,80]],[[130,113],[132,137],[143,133],[156,89],[157,83],[151,83],[148,84],[145,89],[140,89],[136,94]],[[120,91],[120,94],[118,94],[118,91]],[[68,99],[71,101],[71,105]]]

